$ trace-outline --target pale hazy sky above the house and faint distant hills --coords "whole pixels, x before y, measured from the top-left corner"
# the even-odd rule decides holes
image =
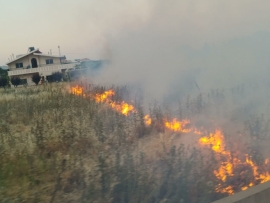
[[[0,65],[29,46],[69,59],[104,58],[124,35],[217,44],[270,29],[267,0],[0,0]],[[149,29],[151,32],[145,32]],[[143,30],[143,32],[141,32]],[[141,35],[140,35],[141,34]],[[151,40],[151,37],[147,37]],[[155,44],[155,42],[152,42]],[[114,46],[112,46],[114,44]],[[162,45],[161,45],[162,46]],[[130,47],[132,48],[132,47]]]

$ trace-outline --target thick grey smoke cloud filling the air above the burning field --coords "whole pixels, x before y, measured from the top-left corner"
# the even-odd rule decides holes
[[[117,15],[99,16],[111,63],[97,83],[139,84],[151,100],[267,82],[270,34],[257,32],[268,24],[264,12],[249,17],[258,12],[255,1],[114,6]]]

